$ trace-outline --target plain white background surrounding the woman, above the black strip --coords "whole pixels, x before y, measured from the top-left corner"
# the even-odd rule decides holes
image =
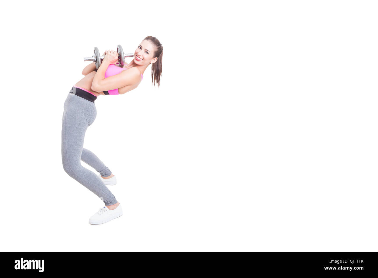
[[[374,1],[4,2],[1,250],[376,252],[376,15]],[[103,203],[63,169],[63,104],[93,47],[146,36],[164,47],[160,88],[149,67],[99,96],[85,135],[123,208],[90,225]]]

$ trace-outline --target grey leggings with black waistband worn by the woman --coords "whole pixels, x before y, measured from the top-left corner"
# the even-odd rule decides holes
[[[95,193],[109,206],[118,203],[116,198],[102,182],[102,178],[84,168],[80,162],[84,161],[103,177],[112,174],[93,152],[83,148],[85,132],[95,121],[96,115],[94,102],[68,93],[62,117],[62,163],[64,171],[70,177]]]

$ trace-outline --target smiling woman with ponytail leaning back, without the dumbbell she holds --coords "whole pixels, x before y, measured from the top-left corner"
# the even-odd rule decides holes
[[[105,186],[115,185],[115,175],[93,152],[83,148],[85,132],[97,115],[95,100],[99,95],[118,95],[135,89],[143,79],[144,70],[150,64],[153,82],[155,84],[156,81],[159,86],[163,46],[155,37],[146,37],[136,48],[133,61],[123,68],[115,64],[118,61],[116,51],[108,50],[104,55],[98,70],[95,63],[84,68],[82,74],[85,77],[68,93],[62,118],[64,171],[105,203],[103,208],[90,217],[90,224],[102,224],[122,215],[121,205]],[[96,175],[84,168],[81,160],[100,174]]]

